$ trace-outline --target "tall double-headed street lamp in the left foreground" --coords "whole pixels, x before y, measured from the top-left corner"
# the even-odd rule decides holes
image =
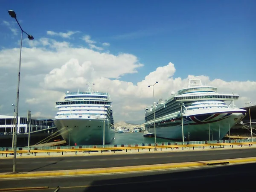
[[[19,111],[19,91],[20,91],[20,62],[21,62],[21,48],[22,48],[22,37],[23,37],[23,32],[26,33],[25,31],[23,31],[23,29],[20,26],[20,23],[17,20],[17,16],[16,13],[13,10],[9,10],[8,11],[9,15],[12,18],[15,18],[15,20],[17,21],[20,30],[21,30],[21,37],[20,37],[20,61],[19,61],[19,73],[18,73],[18,86],[17,86],[17,99],[16,99],[16,121],[15,121],[15,134],[14,134],[14,153],[13,153],[13,165],[12,165],[12,173],[15,174],[16,173],[16,155],[17,155],[17,128],[18,128],[18,111]],[[34,37],[32,35],[29,35],[28,33],[26,33],[26,35],[28,35],[29,40],[33,40]]]

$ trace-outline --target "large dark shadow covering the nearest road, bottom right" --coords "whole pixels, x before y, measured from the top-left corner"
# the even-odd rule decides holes
[[[255,192],[256,163],[93,181],[83,192]],[[110,176],[110,177],[113,177]],[[253,183],[251,183],[253,182]]]

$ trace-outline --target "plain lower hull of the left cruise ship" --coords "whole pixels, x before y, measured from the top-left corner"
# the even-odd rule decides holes
[[[103,119],[54,119],[54,123],[67,144],[103,144]],[[114,136],[114,128],[105,120],[105,144],[111,143]]]

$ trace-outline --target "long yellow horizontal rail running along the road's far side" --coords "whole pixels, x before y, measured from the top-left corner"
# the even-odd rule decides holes
[[[207,143],[207,144],[183,144],[183,145],[157,145],[157,148],[183,148],[183,147],[207,147],[207,146],[223,146],[224,145],[256,145],[256,142],[243,143]],[[77,152],[77,151],[102,151],[102,150],[128,150],[128,149],[151,149],[153,146],[132,146],[132,147],[105,147],[105,148],[69,148],[69,149],[40,149],[30,150],[31,153],[51,153],[51,152]],[[0,154],[10,154],[14,151],[0,151]],[[17,150],[17,153],[28,153],[28,150]]]

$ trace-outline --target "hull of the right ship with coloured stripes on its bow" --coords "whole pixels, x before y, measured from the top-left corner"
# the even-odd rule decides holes
[[[222,140],[230,128],[241,121],[245,115],[246,113],[238,111],[183,116],[184,141]],[[149,131],[154,133],[154,125],[149,128]],[[156,137],[182,141],[181,119],[177,118],[173,125],[156,123]]]

